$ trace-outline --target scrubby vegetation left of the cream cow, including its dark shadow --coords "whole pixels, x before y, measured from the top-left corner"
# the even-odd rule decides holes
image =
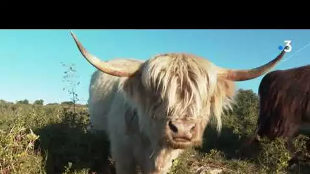
[[[76,108],[76,113],[62,106],[1,108],[6,108],[0,118],[2,173],[113,171],[105,135],[86,131],[89,116],[85,108]]]

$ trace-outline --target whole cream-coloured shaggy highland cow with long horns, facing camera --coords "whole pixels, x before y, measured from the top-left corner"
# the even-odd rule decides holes
[[[105,131],[117,174],[167,173],[186,148],[202,143],[210,117],[221,129],[221,114],[230,107],[234,81],[250,80],[272,69],[271,62],[249,70],[217,67],[188,53],[165,53],[142,62],[101,62],[71,35],[94,72],[89,89],[91,128]]]

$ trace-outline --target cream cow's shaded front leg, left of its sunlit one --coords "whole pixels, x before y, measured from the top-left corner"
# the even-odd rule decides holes
[[[128,143],[111,141],[111,156],[115,161],[116,174],[136,174],[136,164]]]

